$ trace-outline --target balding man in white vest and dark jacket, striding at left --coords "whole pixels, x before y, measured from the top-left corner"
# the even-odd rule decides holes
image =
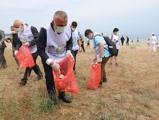
[[[13,27],[15,31],[12,31],[13,35],[13,44],[15,46],[15,55],[18,52],[18,49],[22,45],[26,45],[29,47],[30,52],[32,53],[34,62],[36,63],[36,59],[38,57],[37,52],[37,40],[38,40],[38,31],[33,26],[26,26],[22,21],[15,20],[13,23]],[[32,68],[26,68],[24,77],[20,81],[20,85],[24,86],[27,83],[28,76],[31,74],[31,70],[34,70],[34,72],[37,74],[36,80],[40,80],[42,78],[42,73],[40,71],[40,68],[37,64],[35,64]]]

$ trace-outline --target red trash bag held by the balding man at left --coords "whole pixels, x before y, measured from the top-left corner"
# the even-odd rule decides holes
[[[16,54],[16,58],[19,62],[20,68],[32,68],[35,66],[32,54],[30,53],[29,48],[25,45],[22,45],[19,48],[19,51]]]

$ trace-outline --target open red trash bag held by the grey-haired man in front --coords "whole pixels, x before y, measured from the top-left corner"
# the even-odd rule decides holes
[[[59,74],[53,70],[55,85],[60,92],[71,92],[78,94],[79,89],[77,86],[77,81],[73,72],[74,59],[72,56],[66,56],[60,63],[60,71],[62,78]]]

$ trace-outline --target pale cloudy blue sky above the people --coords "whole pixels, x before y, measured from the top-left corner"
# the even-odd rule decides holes
[[[52,21],[55,11],[64,10],[78,22],[81,33],[91,28],[110,35],[114,27],[120,35],[149,36],[159,33],[159,0],[3,0],[0,29],[10,32],[15,19],[40,29]]]

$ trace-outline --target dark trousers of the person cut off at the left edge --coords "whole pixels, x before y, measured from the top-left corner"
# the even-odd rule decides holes
[[[4,50],[5,48],[0,48],[0,68],[6,68],[7,67],[7,62],[4,56]]]

